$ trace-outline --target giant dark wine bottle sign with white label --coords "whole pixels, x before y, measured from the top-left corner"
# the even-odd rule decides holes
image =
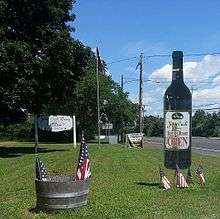
[[[192,96],[183,81],[183,53],[173,52],[172,83],[164,94],[164,165],[191,165]]]

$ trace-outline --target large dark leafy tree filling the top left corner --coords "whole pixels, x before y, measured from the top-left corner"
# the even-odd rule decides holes
[[[0,1],[0,107],[64,104],[93,57],[70,36],[72,0]],[[1,115],[4,117],[3,114]]]

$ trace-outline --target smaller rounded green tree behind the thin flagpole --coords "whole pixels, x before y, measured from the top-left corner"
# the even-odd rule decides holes
[[[76,113],[78,130],[84,130],[87,139],[93,138],[97,134],[97,97],[96,97],[96,73],[95,66],[78,83],[75,91],[76,103],[74,111]],[[101,120],[107,119],[113,123],[114,133],[121,132],[130,124],[133,125],[136,117],[136,108],[128,100],[128,94],[115,83],[110,76],[99,75],[100,82],[100,115]],[[105,116],[104,116],[105,115]]]

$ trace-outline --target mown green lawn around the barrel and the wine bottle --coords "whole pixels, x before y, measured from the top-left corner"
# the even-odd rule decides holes
[[[92,181],[86,207],[53,213],[35,210],[35,156],[31,143],[0,143],[0,218],[220,218],[220,159],[193,154],[195,184],[188,189],[159,188],[159,149],[89,145]],[[41,144],[49,173],[72,173],[79,148]],[[198,185],[195,170],[205,169]],[[165,170],[170,179],[173,171]]]

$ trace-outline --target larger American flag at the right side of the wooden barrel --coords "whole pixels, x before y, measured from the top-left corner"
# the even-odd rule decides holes
[[[88,146],[84,140],[81,142],[79,162],[76,173],[76,180],[86,180],[91,176]]]

